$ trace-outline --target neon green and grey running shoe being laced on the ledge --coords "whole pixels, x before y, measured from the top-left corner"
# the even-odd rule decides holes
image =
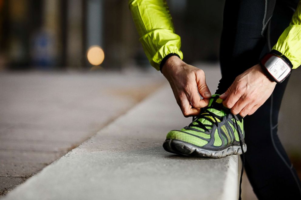
[[[242,154],[247,150],[243,119],[233,115],[215,94],[208,107],[202,108],[189,126],[171,130],[163,144],[166,151],[176,154],[222,158]]]

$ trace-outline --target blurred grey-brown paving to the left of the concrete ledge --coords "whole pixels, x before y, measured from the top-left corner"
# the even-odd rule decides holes
[[[164,78],[155,72],[0,74],[0,195],[94,135],[162,83]]]

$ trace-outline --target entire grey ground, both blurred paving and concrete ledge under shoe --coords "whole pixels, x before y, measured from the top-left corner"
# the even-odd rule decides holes
[[[214,93],[219,68],[196,66]],[[301,114],[300,72],[290,78],[279,116],[289,152],[301,151],[298,117],[286,117]],[[237,185],[237,156],[187,159],[162,149],[166,133],[191,119],[158,73],[0,74],[0,84],[0,189],[34,175],[5,199],[212,199],[211,184],[218,199],[237,196],[236,187],[224,192]],[[225,174],[217,173],[221,166]],[[246,177],[242,197],[256,199]]]

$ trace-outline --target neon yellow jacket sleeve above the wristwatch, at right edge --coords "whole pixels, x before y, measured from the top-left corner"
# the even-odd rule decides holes
[[[292,63],[293,69],[301,65],[301,0],[292,21],[272,49],[287,57]]]

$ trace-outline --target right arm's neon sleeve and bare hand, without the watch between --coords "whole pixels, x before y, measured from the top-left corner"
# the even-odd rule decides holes
[[[271,53],[281,55],[293,69],[301,64],[301,1],[289,26],[280,35]],[[225,107],[241,116],[253,114],[272,94],[276,82],[266,77],[259,64],[236,77],[220,96]]]

